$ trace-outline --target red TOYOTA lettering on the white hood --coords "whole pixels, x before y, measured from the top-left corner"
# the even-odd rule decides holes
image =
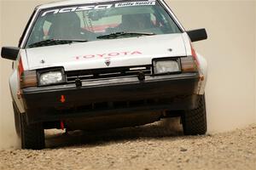
[[[93,58],[103,58],[109,59],[111,57],[118,57],[118,56],[125,56],[125,55],[139,55],[143,54],[140,51],[131,51],[131,52],[113,52],[113,53],[106,53],[106,54],[85,54],[80,56],[75,56],[75,59],[93,59]]]

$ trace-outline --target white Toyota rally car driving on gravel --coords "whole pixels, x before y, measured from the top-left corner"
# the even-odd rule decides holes
[[[22,148],[44,148],[44,129],[131,127],[181,116],[207,132],[207,62],[163,0],[72,0],[35,8],[9,78]]]

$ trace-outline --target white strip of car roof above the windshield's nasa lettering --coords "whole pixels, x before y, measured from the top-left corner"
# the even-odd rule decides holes
[[[38,9],[42,8],[55,8],[60,6],[69,6],[76,4],[86,4],[86,3],[105,3],[105,2],[113,2],[113,1],[122,1],[122,0],[66,0],[66,1],[57,1],[53,3],[45,3],[42,5],[38,5]]]

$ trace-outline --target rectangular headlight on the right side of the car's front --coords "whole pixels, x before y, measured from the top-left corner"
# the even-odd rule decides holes
[[[181,71],[178,59],[154,60],[154,74],[174,73]]]

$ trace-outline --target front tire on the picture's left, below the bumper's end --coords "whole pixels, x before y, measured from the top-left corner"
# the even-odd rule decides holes
[[[41,150],[45,147],[42,123],[26,123],[26,114],[20,115],[20,132],[22,149]]]

